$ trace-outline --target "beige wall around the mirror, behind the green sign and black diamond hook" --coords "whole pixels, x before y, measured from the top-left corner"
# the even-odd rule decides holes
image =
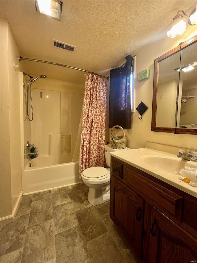
[[[197,25],[187,26],[187,30],[183,35],[171,39],[166,35],[170,28],[171,25],[137,51],[138,55],[135,58],[135,108],[143,101],[148,109],[141,121],[138,118],[139,113],[135,110],[131,117],[131,129],[125,130],[127,146],[132,149],[145,147],[146,141],[197,149],[196,135],[151,132],[154,60],[177,47],[180,42],[186,41],[197,34]],[[130,52],[132,54],[132,50]],[[138,82],[137,73],[146,68],[150,69],[149,79]],[[111,129],[109,132],[111,132]]]

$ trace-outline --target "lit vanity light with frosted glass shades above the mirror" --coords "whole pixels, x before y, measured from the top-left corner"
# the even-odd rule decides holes
[[[180,12],[182,12],[184,16],[179,14]],[[183,10],[178,11],[177,15],[173,18],[171,30],[167,31],[167,36],[175,38],[178,35],[182,35],[186,31],[187,23],[191,26],[197,24],[197,4],[190,16],[187,16]]]

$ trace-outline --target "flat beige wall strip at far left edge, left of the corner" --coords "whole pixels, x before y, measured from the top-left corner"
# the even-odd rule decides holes
[[[12,214],[11,167],[10,167],[10,111],[8,89],[8,30],[7,22],[1,20],[1,192],[0,216]]]

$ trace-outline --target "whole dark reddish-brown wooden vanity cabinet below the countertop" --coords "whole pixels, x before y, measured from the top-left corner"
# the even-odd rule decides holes
[[[197,198],[113,156],[110,189],[110,217],[139,262],[196,262]]]

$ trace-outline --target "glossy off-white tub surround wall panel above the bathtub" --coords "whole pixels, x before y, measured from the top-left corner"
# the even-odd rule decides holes
[[[45,80],[40,80],[41,87],[46,85]],[[72,162],[83,95],[38,89],[35,84],[32,84],[34,120],[30,122],[28,140],[38,147],[39,156],[61,154],[65,163]]]

